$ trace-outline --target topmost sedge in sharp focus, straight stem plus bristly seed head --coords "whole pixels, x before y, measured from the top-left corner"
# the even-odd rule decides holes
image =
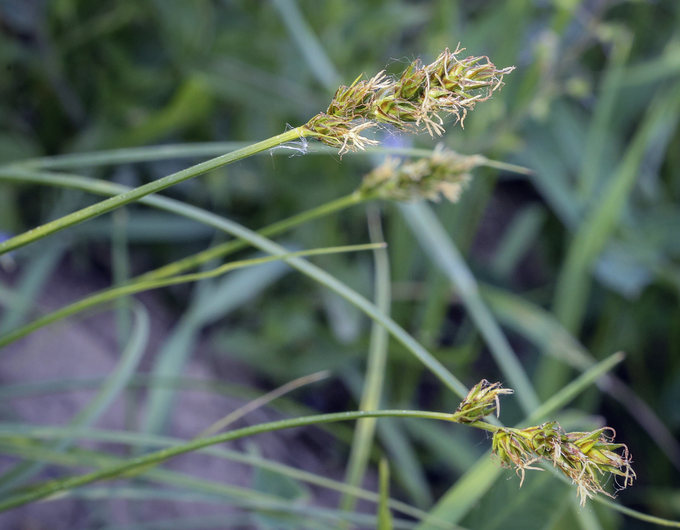
[[[496,69],[486,57],[458,59],[461,51],[459,48],[454,52],[447,49],[430,65],[413,61],[399,78],[390,78],[384,72],[370,80],[357,78],[350,86],[338,88],[328,110],[317,114],[305,125],[183,169],[7,239],[0,243],[0,255],[207,171],[306,137],[337,147],[343,154],[377,144],[377,140],[362,136],[362,132],[378,125],[391,125],[412,132],[426,129],[430,135],[441,135],[444,129],[440,114],[452,114],[462,122],[475,103],[490,98],[494,90],[503,85],[503,76],[513,69]]]

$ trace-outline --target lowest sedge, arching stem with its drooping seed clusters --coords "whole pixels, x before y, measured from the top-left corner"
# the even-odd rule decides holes
[[[10,493],[9,497],[5,500],[0,501],[0,511],[16,508],[31,501],[44,499],[60,491],[77,488],[99,480],[125,478],[143,474],[150,467],[154,467],[179,454],[230,440],[238,440],[239,438],[258,433],[304,425],[381,417],[445,420],[490,431],[493,433],[493,454],[498,459],[500,465],[514,467],[523,482],[526,469],[540,469],[534,466],[535,463],[539,461],[552,463],[559,471],[562,471],[566,478],[577,485],[577,493],[581,498],[582,505],[585,503],[585,498],[592,497],[593,493],[605,493],[605,495],[613,496],[602,487],[602,476],[609,474],[622,477],[624,480],[620,484],[621,487],[632,484],[635,473],[631,467],[632,459],[630,454],[628,454],[628,449],[624,444],[615,444],[613,436],[605,435],[605,432],[608,430],[613,433],[613,429],[609,427],[589,433],[564,433],[556,422],[543,423],[524,429],[499,427],[498,425],[487,423],[485,418],[490,416],[490,414],[496,412],[498,416],[499,396],[511,393],[513,393],[511,389],[503,388],[500,383],[490,384],[488,381],[482,380],[471,388],[452,414],[417,410],[339,412],[279,420],[244,427],[243,429],[235,429],[220,435],[199,438],[180,446],[144,454],[141,457],[129,459],[110,467],[104,467],[99,471],[93,471],[89,474],[60,480],[50,480],[42,484],[35,484],[30,488],[20,488],[18,491]],[[3,444],[0,439],[0,445],[7,444]],[[619,448],[623,448],[622,454],[615,452]],[[522,482],[520,482],[520,486]]]

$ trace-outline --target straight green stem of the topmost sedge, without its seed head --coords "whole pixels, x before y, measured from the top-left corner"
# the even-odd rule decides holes
[[[126,191],[125,193],[121,193],[120,195],[116,195],[116,197],[111,197],[105,201],[88,206],[87,208],[82,208],[82,210],[78,210],[78,212],[73,212],[72,214],[63,216],[52,222],[48,222],[46,225],[29,230],[0,243],[0,256],[15,250],[16,248],[33,243],[38,239],[42,239],[48,235],[68,227],[72,227],[73,225],[78,225],[79,223],[88,219],[100,216],[106,212],[111,212],[116,208],[120,208],[120,206],[124,206],[131,202],[137,201],[142,197],[146,197],[146,195],[156,193],[180,182],[184,182],[184,180],[188,180],[203,173],[207,173],[207,171],[211,171],[212,169],[217,169],[218,167],[245,159],[248,156],[252,156],[258,152],[286,144],[286,142],[292,142],[293,140],[304,136],[306,133],[307,131],[301,127],[291,129],[285,133],[273,136],[266,140],[262,140],[262,142],[252,144],[252,146],[223,154],[222,156],[218,156],[215,159],[193,165],[192,167],[182,169],[182,171],[177,171],[177,173],[173,173],[158,180],[154,180],[154,182],[149,182],[148,184],[139,186],[139,188],[135,188],[133,190]]]

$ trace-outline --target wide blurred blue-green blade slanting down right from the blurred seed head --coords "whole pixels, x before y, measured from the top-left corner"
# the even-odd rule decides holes
[[[430,259],[456,287],[460,297],[481,331],[496,363],[515,390],[522,410],[530,414],[539,406],[539,399],[524,368],[515,356],[500,326],[479,295],[477,280],[464,262],[458,249],[441,226],[437,216],[424,203],[403,203],[400,211],[405,216],[418,242]]]

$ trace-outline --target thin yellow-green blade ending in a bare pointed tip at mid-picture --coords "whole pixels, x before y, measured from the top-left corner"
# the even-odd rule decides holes
[[[173,278],[160,278],[158,280],[147,280],[145,282],[135,282],[133,284],[127,284],[120,287],[114,287],[110,289],[105,289],[95,295],[89,296],[77,302],[71,303],[60,310],[46,314],[41,318],[33,320],[30,324],[20,327],[10,333],[2,335],[0,337],[0,348],[7,346],[7,344],[12,344],[12,342],[33,333],[33,331],[40,329],[41,327],[47,326],[56,322],[57,320],[62,320],[76,313],[80,313],[86,309],[92,308],[95,305],[101,303],[109,302],[120,297],[134,295],[136,293],[141,293],[142,291],[150,291],[152,289],[158,289],[161,287],[167,287],[170,285],[182,284],[187,282],[198,282],[199,280],[205,280],[206,278],[215,278],[216,276],[221,276],[228,271],[233,271],[235,269],[242,269],[243,267],[252,267],[254,265],[261,265],[262,263],[269,263],[270,261],[279,261],[282,259],[294,257],[294,256],[313,256],[318,254],[330,254],[333,252],[350,252],[352,250],[372,250],[377,248],[374,244],[368,245],[352,245],[352,246],[341,246],[333,248],[317,248],[313,250],[301,250],[299,252],[290,252],[288,254],[283,254],[279,256],[265,256],[262,258],[255,259],[245,259],[241,261],[232,261],[230,263],[225,263],[221,267],[217,267],[211,271],[196,273],[196,274],[185,274],[184,276],[174,276]]]

